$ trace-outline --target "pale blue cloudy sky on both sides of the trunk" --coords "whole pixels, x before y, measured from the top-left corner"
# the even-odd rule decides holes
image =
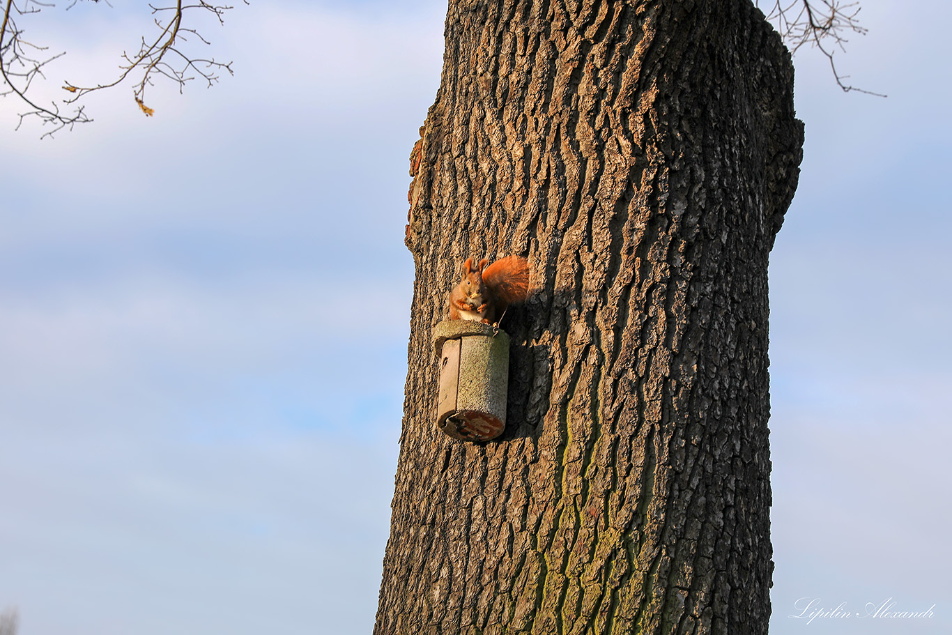
[[[148,16],[112,4],[28,31],[69,50],[54,92],[135,46]],[[444,13],[239,4],[203,30],[235,76],[151,89],[153,118],[113,89],[40,141],[0,101],[0,609],[22,635],[369,632],[407,156]],[[770,272],[774,633],[952,630],[952,7],[861,15],[841,70],[887,99],[795,60],[805,156]],[[806,625],[787,617],[805,597],[936,615]]]

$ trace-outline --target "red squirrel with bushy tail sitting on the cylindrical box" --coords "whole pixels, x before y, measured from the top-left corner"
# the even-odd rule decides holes
[[[506,307],[529,295],[529,264],[522,256],[506,256],[486,267],[483,259],[463,265],[463,280],[449,292],[449,319],[496,324]]]

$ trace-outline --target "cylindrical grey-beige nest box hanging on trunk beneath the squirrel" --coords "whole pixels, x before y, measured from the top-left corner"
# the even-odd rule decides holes
[[[488,441],[506,428],[509,336],[470,320],[445,320],[433,329],[440,358],[436,424],[460,441]]]

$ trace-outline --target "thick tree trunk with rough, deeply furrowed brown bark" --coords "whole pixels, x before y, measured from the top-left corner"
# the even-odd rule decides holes
[[[766,632],[792,83],[749,0],[449,0],[377,635]],[[537,290],[506,433],[453,441],[430,331],[467,256],[510,253]]]

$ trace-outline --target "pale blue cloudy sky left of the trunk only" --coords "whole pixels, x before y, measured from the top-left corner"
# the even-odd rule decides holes
[[[117,12],[50,31],[54,92],[114,68]],[[372,623],[442,49],[438,11],[402,12],[239,6],[215,89],[155,89],[150,120],[103,93],[52,141],[0,126],[0,605],[25,631]]]

